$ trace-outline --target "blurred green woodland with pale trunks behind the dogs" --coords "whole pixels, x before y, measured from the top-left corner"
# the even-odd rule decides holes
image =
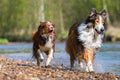
[[[83,21],[93,7],[108,11],[108,24],[119,24],[120,0],[0,0],[0,37],[30,41],[40,21],[51,21],[57,38],[66,38],[71,25]]]

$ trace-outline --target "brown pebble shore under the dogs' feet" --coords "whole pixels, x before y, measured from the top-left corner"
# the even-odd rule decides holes
[[[0,80],[120,80],[120,75],[69,70],[65,65],[44,68],[0,56]]]

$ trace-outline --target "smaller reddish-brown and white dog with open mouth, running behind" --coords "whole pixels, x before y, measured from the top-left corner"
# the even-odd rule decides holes
[[[37,59],[37,65],[40,66],[43,62],[42,52],[47,55],[45,66],[50,65],[55,51],[55,28],[51,22],[40,22],[38,30],[33,32],[33,57]],[[40,54],[39,54],[40,52]]]

